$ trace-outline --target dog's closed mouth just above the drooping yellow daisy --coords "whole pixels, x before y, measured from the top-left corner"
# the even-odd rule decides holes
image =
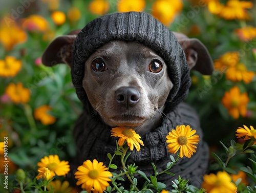
[[[123,126],[138,126],[141,125],[146,118],[139,117],[139,116],[127,116],[127,115],[120,115],[116,117],[112,117],[111,122],[115,125],[123,125]]]

